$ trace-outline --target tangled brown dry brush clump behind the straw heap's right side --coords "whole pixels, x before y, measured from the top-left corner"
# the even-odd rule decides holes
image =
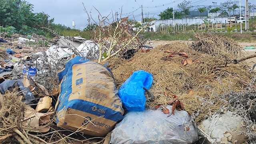
[[[195,37],[198,41],[192,44],[192,48],[198,52],[227,60],[240,56],[242,47],[226,36],[197,33]]]

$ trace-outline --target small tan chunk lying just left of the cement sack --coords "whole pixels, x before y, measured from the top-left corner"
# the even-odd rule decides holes
[[[52,98],[50,98],[49,96],[45,96],[43,98],[40,98],[36,106],[36,111],[47,112],[51,106],[52,106]]]

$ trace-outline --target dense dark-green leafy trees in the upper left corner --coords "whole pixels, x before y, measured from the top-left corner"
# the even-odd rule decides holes
[[[54,24],[44,12],[34,13],[32,4],[25,0],[0,0],[0,26],[22,34],[46,34],[42,27],[54,30],[70,29],[62,24]]]

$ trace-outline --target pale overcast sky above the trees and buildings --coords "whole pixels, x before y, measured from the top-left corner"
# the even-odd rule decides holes
[[[97,8],[102,16],[107,16],[111,11],[120,12],[121,8],[123,16],[127,16],[126,13],[133,12],[137,20],[141,19],[141,5],[143,5],[144,14],[149,13],[150,17],[157,17],[161,11],[168,7],[177,7],[177,4],[182,0],[26,0],[34,5],[34,12],[45,12],[54,18],[55,23],[65,24],[66,26],[72,26],[72,20],[75,21],[76,28],[82,29],[88,24],[87,15],[84,12],[82,2],[84,2],[86,9],[92,12],[94,19],[97,18],[98,12],[94,9]],[[212,2],[224,2],[226,0],[191,0],[192,6],[198,5],[212,5]],[[244,5],[245,0],[241,0],[241,4]],[[256,0],[249,0],[249,2],[256,4]],[[94,6],[94,7],[93,7]],[[112,14],[111,14],[112,18]]]

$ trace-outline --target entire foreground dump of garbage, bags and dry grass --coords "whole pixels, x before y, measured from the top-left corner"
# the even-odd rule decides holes
[[[209,44],[199,39],[198,49],[171,43],[133,50],[129,58],[120,55],[104,64],[95,62],[99,48],[94,41],[58,36],[33,49],[41,39],[48,40],[34,35],[0,42],[1,143],[255,139],[255,73],[244,62],[228,61],[241,48],[227,39],[211,40],[220,50],[207,51]]]

